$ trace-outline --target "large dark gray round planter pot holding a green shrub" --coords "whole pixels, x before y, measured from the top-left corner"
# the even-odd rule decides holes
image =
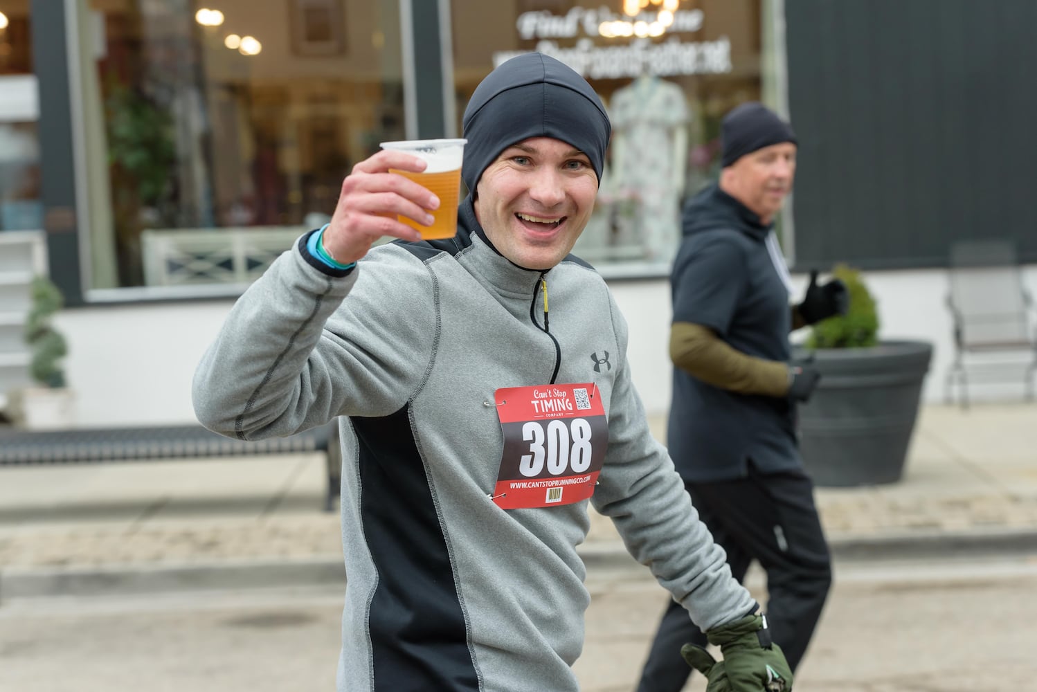
[[[894,483],[903,474],[932,345],[890,341],[870,348],[796,349],[821,380],[798,408],[800,451],[814,484]]]

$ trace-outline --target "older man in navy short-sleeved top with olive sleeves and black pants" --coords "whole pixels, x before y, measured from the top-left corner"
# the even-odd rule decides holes
[[[760,104],[724,118],[720,182],[684,208],[671,277],[668,426],[670,456],[734,576],[740,581],[754,559],[766,571],[772,636],[793,670],[832,572],[795,433],[795,402],[810,397],[820,376],[790,364],[788,334],[848,307],[845,286],[818,285],[814,272],[790,310],[773,226],[792,188],[795,154],[792,128]],[[678,654],[686,641],[706,639],[670,603],[639,692],[683,688],[691,671]]]

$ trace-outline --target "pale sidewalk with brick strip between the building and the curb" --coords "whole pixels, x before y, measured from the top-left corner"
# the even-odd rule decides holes
[[[923,407],[899,483],[817,490],[837,559],[1037,551],[1035,431],[1037,405]],[[341,580],[324,484],[319,455],[0,469],[0,598]],[[581,550],[633,565],[593,512]]]

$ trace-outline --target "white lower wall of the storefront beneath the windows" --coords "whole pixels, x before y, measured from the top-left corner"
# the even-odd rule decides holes
[[[801,295],[806,278],[795,276],[793,280]],[[926,401],[942,401],[944,377],[954,350],[950,314],[944,302],[947,272],[869,271],[865,280],[878,302],[881,338],[933,343],[923,396]],[[1037,265],[1027,267],[1026,281],[1031,292],[1037,289]],[[670,400],[669,285],[662,280],[620,282],[613,290],[630,327],[634,380],[648,411],[664,412]],[[61,314],[58,326],[69,342],[67,374],[79,397],[80,425],[193,422],[194,367],[230,306],[229,300],[141,304]],[[1020,379],[1007,378],[1006,382],[977,384],[971,394],[977,400],[1021,398],[1021,384],[1016,383]]]

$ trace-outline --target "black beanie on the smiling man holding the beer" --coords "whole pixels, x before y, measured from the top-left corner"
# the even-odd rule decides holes
[[[461,120],[461,178],[471,193],[502,151],[530,137],[571,144],[590,158],[598,184],[612,125],[590,84],[564,63],[529,53],[511,58],[475,88]]]

